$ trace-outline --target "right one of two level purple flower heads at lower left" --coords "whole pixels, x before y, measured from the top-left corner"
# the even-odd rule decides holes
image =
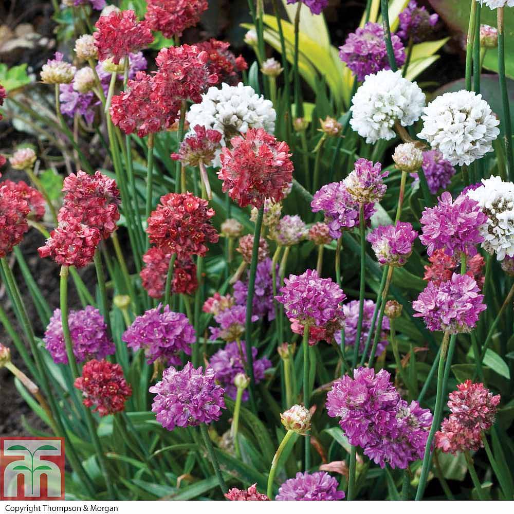
[[[121,337],[133,350],[144,348],[146,362],[159,360],[163,364],[179,366],[179,352],[191,355],[191,344],[195,341],[194,328],[186,315],[174,313],[168,305],[162,309],[147,310],[138,316]]]

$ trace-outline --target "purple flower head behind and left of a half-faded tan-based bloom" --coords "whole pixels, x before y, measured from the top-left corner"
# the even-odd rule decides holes
[[[348,193],[344,182],[332,182],[314,194],[310,203],[313,212],[324,211],[328,233],[333,239],[341,237],[341,231],[359,223],[359,205]],[[370,219],[375,212],[374,204],[364,204],[364,218]]]

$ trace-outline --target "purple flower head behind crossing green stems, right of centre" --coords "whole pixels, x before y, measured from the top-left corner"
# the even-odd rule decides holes
[[[366,345],[366,339],[370,333],[371,320],[373,318],[373,311],[375,310],[375,302],[373,300],[364,300],[364,310],[362,313],[362,331],[360,333],[359,352],[364,351]],[[359,301],[352,300],[343,305],[344,313],[344,345],[355,346],[355,338],[357,337],[357,325],[359,322]],[[378,324],[378,319],[375,321],[375,327]],[[380,355],[389,344],[386,333],[384,331],[389,330],[389,318],[384,316],[382,318],[382,333],[380,334],[380,340],[377,344],[376,355]],[[341,344],[341,334],[336,332],[334,339],[337,344]],[[371,348],[370,348],[371,352]]]

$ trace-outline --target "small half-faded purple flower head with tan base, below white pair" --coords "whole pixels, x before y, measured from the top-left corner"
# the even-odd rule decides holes
[[[389,175],[382,171],[380,162],[373,164],[366,159],[357,159],[353,171],[343,180],[346,191],[357,204],[373,204],[386,194],[387,186],[383,178]]]

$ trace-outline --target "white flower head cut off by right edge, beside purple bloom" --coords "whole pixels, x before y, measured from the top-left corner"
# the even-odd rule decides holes
[[[482,248],[496,253],[503,261],[505,256],[514,256],[514,183],[503,182],[500,177],[482,179],[482,186],[466,194],[478,201],[482,211],[489,217],[480,227],[484,237]]]

